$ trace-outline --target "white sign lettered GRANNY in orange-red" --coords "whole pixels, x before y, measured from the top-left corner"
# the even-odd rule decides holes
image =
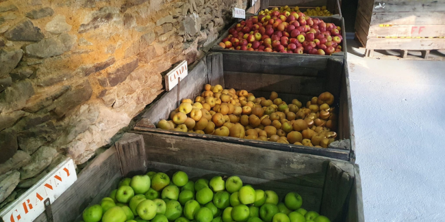
[[[68,158],[12,202],[8,208],[0,212],[1,219],[5,222],[34,221],[44,212],[43,202],[45,199],[49,198],[53,203],[76,180],[73,159]]]

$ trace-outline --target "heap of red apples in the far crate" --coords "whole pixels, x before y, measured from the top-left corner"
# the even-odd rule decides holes
[[[303,12],[274,11],[242,20],[219,45],[244,51],[331,55],[342,51],[340,30]]]

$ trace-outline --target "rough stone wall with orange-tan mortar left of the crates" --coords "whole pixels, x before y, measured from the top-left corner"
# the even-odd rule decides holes
[[[109,145],[240,3],[0,0],[0,208],[64,156],[79,165]]]

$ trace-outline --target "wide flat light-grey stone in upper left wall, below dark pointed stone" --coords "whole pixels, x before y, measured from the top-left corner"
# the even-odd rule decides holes
[[[25,46],[25,53],[31,57],[39,58],[58,56],[70,51],[76,42],[77,36],[62,33],[60,36]]]

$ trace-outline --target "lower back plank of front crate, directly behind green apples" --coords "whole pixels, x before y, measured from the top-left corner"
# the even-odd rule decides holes
[[[199,178],[207,180],[214,176],[232,176],[227,174],[225,168],[218,169],[218,171],[211,171],[207,169],[199,169],[194,167],[184,167],[181,165],[172,165],[168,163],[149,162],[149,171],[163,171],[168,176],[172,176],[176,171],[181,170],[188,174],[189,179],[196,181]],[[272,190],[277,192],[279,199],[284,199],[289,192],[297,192],[303,197],[303,208],[306,210],[319,210],[320,200],[322,199],[322,189],[311,186],[299,186],[296,184],[289,184],[280,181],[264,180],[253,178],[249,176],[240,176],[243,184],[251,184],[255,189],[262,189],[264,191]]]

